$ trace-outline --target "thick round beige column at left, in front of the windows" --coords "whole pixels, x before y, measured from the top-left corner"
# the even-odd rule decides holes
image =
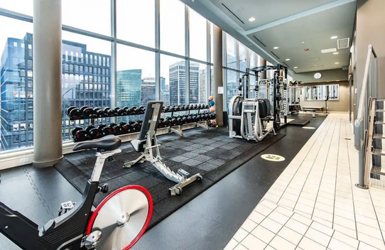
[[[33,165],[63,158],[62,5],[33,0]]]

